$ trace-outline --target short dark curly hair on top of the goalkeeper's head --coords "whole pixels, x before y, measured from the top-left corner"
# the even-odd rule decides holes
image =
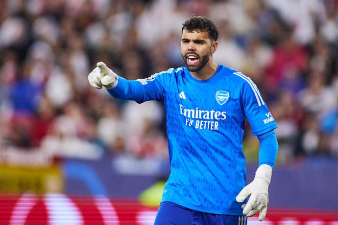
[[[182,27],[182,33],[183,30],[187,30],[188,32],[197,31],[197,32],[203,32],[207,31],[209,33],[209,36],[214,41],[217,41],[218,38],[218,30],[214,22],[211,20],[201,17],[201,16],[193,16],[186,20]]]

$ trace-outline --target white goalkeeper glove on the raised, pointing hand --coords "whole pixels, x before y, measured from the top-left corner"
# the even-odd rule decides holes
[[[118,85],[118,75],[102,62],[96,65],[97,67],[88,75],[89,84],[96,89],[101,89],[102,86],[107,89],[115,88]]]

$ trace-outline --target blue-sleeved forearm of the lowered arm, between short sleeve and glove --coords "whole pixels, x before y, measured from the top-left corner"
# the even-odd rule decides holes
[[[259,148],[259,166],[266,164],[273,168],[277,158],[278,142],[275,131],[268,131],[262,135],[257,136]]]

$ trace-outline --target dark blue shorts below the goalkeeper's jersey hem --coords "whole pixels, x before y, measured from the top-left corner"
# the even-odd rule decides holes
[[[213,214],[162,202],[154,225],[246,225],[245,216]]]

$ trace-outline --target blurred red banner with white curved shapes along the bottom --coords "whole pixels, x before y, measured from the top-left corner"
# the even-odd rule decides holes
[[[0,196],[0,224],[152,225],[157,208],[136,200],[76,197],[64,194]],[[338,212],[268,209],[264,222],[253,225],[338,225]]]

